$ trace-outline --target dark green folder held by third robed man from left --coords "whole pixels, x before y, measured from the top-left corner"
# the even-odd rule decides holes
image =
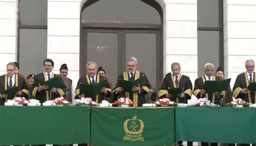
[[[106,80],[99,81],[97,84],[82,84],[80,83],[79,95],[84,94],[85,97],[96,97],[101,93],[101,89],[106,86]]]

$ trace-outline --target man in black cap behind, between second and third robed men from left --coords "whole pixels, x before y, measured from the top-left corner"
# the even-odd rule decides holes
[[[64,81],[64,83],[67,86],[67,93],[65,94],[65,98],[69,101],[69,102],[73,102],[74,103],[74,98],[75,98],[75,84],[74,82],[68,78],[68,66],[67,64],[62,64],[60,66],[60,75]]]

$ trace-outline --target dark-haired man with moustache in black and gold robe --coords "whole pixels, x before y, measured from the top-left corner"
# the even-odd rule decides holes
[[[35,77],[48,81],[49,79],[52,79],[54,77],[57,77],[56,74],[52,72],[54,68],[54,62],[52,59],[45,59],[44,60],[44,70],[45,72],[37,74]],[[61,78],[61,77],[60,77]],[[45,101],[48,100],[54,100],[57,97],[64,97],[65,92],[66,92],[66,85],[64,84],[63,80],[61,80],[61,87],[60,88],[53,88],[50,91],[48,89],[42,89],[42,91],[39,91],[39,85],[38,84],[33,84],[33,90],[32,90],[32,96],[35,96],[36,100],[39,100],[41,105]],[[41,85],[43,86],[43,85]],[[55,91],[54,91],[55,90]]]

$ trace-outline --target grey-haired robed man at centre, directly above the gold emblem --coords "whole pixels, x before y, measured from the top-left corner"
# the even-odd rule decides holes
[[[146,74],[136,70],[137,59],[135,57],[129,57],[127,61],[127,72],[124,72],[118,76],[116,87],[113,90],[113,101],[119,99],[120,97],[129,97],[131,101],[134,102],[133,107],[141,107],[142,104],[146,103],[145,95],[150,92],[150,82],[147,79]],[[138,78],[144,77],[144,84],[142,88],[134,87],[133,92],[123,92],[123,89],[120,87],[119,79],[126,81],[135,81]]]

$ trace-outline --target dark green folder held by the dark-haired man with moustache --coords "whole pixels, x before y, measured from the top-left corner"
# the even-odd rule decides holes
[[[50,91],[52,88],[61,88],[62,78],[60,76],[57,76],[57,77],[51,78],[48,81],[44,81],[37,77],[34,77],[34,83],[35,84],[40,83],[40,85],[46,85],[49,87],[48,91]]]

